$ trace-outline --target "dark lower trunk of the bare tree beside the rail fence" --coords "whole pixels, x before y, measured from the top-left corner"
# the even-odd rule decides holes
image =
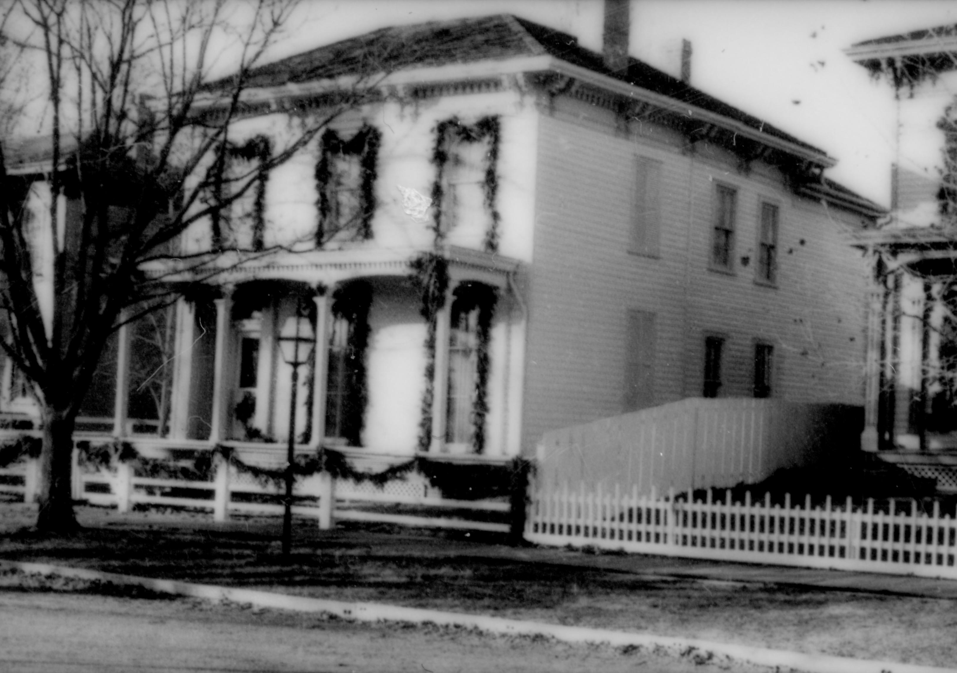
[[[71,482],[75,424],[76,418],[67,411],[51,407],[44,409],[38,484],[40,509],[36,517],[38,531],[71,532],[78,528]]]

